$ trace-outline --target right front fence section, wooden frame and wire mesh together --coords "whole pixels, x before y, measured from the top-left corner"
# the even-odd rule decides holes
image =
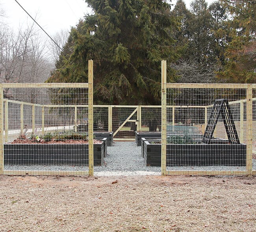
[[[213,126],[210,115],[216,114],[217,101],[227,106],[219,110]],[[255,107],[255,84],[167,83],[162,61],[162,174],[255,175]],[[170,109],[175,110],[173,116]],[[212,129],[212,136],[203,143],[206,128]],[[231,138],[231,129],[237,141]]]

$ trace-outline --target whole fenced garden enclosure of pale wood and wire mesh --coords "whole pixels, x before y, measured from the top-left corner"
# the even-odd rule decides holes
[[[92,79],[92,61],[89,64]],[[97,160],[93,153],[100,153],[100,145],[93,145],[92,136],[100,131],[113,131],[115,140],[134,140],[135,131],[161,133],[161,143],[151,141],[157,148],[150,149],[153,158],[160,157],[163,175],[255,174],[256,85],[166,83],[165,65],[163,61],[159,106],[93,105],[92,80],[1,84],[1,174],[93,175],[93,160]],[[228,102],[239,144],[230,143],[221,114],[210,144],[202,143],[216,99]],[[62,144],[22,145],[22,135],[34,140],[52,138]],[[88,145],[79,142],[82,135],[89,137]],[[20,144],[10,144],[19,136]],[[20,164],[21,168],[8,170],[12,164]],[[51,168],[22,171],[22,166],[33,164]],[[63,165],[69,166],[69,171],[62,170]]]

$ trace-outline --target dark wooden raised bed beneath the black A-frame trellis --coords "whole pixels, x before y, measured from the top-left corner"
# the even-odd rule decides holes
[[[246,144],[228,144],[228,140],[212,144],[167,144],[166,149],[167,166],[246,165]],[[145,141],[144,160],[147,166],[161,166],[161,144]]]

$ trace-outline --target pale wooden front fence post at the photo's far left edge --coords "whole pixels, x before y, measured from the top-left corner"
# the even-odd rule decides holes
[[[4,89],[0,87],[0,175],[4,173]]]

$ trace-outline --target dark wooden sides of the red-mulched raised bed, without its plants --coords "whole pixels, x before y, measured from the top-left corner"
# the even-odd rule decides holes
[[[7,165],[87,166],[88,144],[4,144]],[[102,165],[104,142],[93,144],[94,165]]]

